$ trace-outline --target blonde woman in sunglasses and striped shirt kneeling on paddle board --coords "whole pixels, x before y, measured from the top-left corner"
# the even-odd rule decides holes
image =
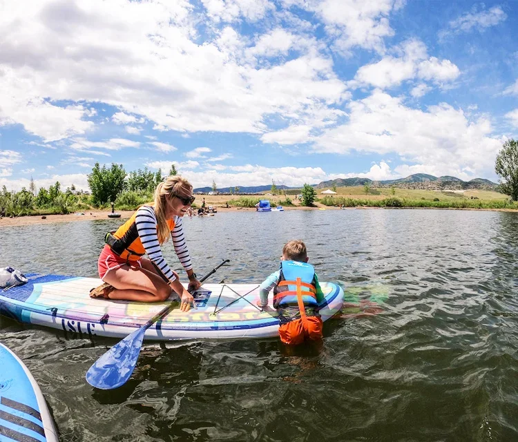
[[[174,291],[180,309],[191,308],[193,296],[162,256],[162,244],[173,238],[175,252],[189,277],[189,289],[198,289],[182,228],[182,216],[195,197],[187,180],[174,175],[158,184],[155,202],[144,204],[114,233],[106,233],[106,245],[97,262],[104,284],[92,289],[93,298],[140,302],[164,301]],[[144,258],[144,255],[148,258]]]

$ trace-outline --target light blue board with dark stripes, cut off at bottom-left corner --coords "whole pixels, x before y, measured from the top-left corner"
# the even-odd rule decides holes
[[[0,441],[58,441],[54,421],[35,379],[3,344],[0,344]]]

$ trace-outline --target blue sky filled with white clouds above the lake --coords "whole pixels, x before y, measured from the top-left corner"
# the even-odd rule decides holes
[[[0,0],[0,186],[497,181],[518,2]]]

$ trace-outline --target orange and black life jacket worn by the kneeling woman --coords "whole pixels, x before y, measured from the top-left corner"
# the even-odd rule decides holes
[[[148,207],[153,207],[152,204],[146,204]],[[104,241],[108,244],[113,252],[126,261],[137,261],[146,254],[142,240],[137,231],[137,224],[135,218],[137,212],[131,215],[131,218],[124,222],[115,233],[108,232]],[[166,220],[169,231],[175,228],[175,221]],[[158,227],[158,226],[157,226]]]

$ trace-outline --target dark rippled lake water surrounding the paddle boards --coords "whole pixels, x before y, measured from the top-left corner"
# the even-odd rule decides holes
[[[119,223],[0,229],[0,267],[97,276]],[[116,340],[1,318],[0,340],[39,382],[61,441],[518,440],[518,214],[236,212],[184,225],[199,276],[231,260],[214,282],[260,282],[284,242],[305,240],[320,280],[344,287],[343,313],[322,348],[146,343],[111,392],[84,374]]]

